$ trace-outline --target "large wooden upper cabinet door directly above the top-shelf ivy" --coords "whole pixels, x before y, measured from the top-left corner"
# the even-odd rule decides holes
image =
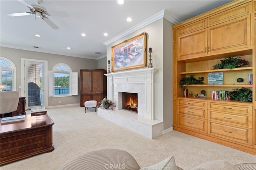
[[[208,28],[208,54],[251,47],[250,14]]]

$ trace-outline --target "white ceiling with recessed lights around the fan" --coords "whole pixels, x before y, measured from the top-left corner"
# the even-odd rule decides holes
[[[35,16],[10,17],[6,14],[30,12],[18,0],[0,0],[0,46],[30,51],[101,59],[106,57],[106,43],[128,29],[138,27],[152,16],[165,10],[176,21],[194,16],[227,4],[232,0],[43,0],[48,13],[64,11],[70,17],[48,16],[59,29],[52,29]],[[28,4],[35,0],[26,0]],[[126,18],[132,21],[127,22]],[[103,33],[108,33],[104,36]],[[86,36],[82,37],[81,33]],[[40,34],[41,37],[35,37]],[[35,49],[31,46],[40,47]],[[68,50],[66,47],[70,47]],[[100,52],[101,54],[94,54]]]

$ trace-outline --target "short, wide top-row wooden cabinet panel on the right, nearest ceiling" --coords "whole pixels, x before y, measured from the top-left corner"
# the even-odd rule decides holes
[[[247,4],[243,4],[236,8],[226,10],[225,12],[221,12],[214,16],[210,16],[208,18],[208,26],[212,26],[212,25],[216,25],[218,23],[233,20],[234,18],[237,18],[244,14],[250,14],[251,12],[252,12],[252,2],[249,2]]]

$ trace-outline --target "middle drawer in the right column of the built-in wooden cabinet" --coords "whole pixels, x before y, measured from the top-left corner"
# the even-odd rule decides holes
[[[252,115],[229,114],[221,111],[208,110],[208,120],[252,128]]]

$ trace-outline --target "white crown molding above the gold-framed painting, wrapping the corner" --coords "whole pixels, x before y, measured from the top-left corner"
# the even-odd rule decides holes
[[[115,41],[117,41],[118,39],[121,39],[122,37],[125,37],[126,35],[129,35],[130,33],[133,33],[134,31],[137,31],[138,29],[141,29],[143,27],[145,27],[146,25],[149,25],[150,23],[157,21],[161,18],[166,18],[166,20],[176,24],[181,22],[180,20],[178,20],[178,18],[174,17],[172,14],[170,14],[169,12],[167,12],[166,10],[162,10],[160,12],[158,12],[157,14],[155,14],[154,16],[144,20],[143,22],[135,25],[134,27],[131,27],[130,29],[127,29],[126,31],[124,31],[123,33],[120,33],[119,35],[117,35],[116,37],[104,42],[104,45],[109,45]]]

